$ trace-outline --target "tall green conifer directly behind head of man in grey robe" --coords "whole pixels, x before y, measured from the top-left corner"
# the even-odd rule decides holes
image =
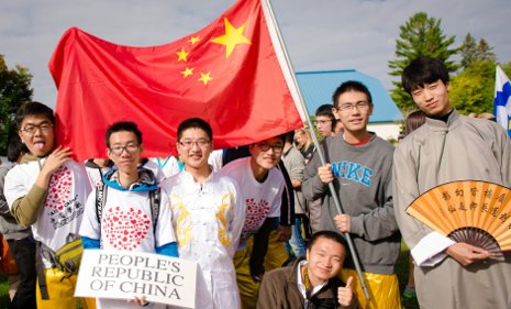
[[[458,65],[448,58],[458,52],[449,47],[455,36],[447,37],[441,27],[441,19],[429,18],[426,13],[419,12],[400,26],[400,34],[396,40],[396,59],[388,63],[389,75],[401,77],[402,70],[416,57],[430,56],[442,59],[449,71],[455,71]],[[401,81],[392,81],[396,86],[391,97],[402,112],[415,108],[413,100],[402,89]]]

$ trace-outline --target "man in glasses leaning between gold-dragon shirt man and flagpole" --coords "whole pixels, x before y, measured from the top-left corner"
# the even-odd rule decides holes
[[[246,209],[240,247],[234,263],[243,308],[255,308],[257,289],[264,276],[263,262],[268,250],[268,238],[279,225],[284,176],[276,168],[284,152],[285,134],[248,146],[249,157],[238,158],[225,165],[221,173],[238,185]],[[253,247],[247,240],[254,235]],[[284,255],[284,243],[279,243]],[[287,260],[285,256],[282,263]],[[246,274],[246,264],[249,274]],[[279,267],[280,265],[276,265]]]

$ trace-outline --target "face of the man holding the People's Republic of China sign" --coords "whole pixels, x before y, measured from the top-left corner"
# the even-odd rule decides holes
[[[114,132],[109,137],[110,147],[107,155],[125,174],[137,170],[144,144],[138,144],[135,133],[131,131]]]

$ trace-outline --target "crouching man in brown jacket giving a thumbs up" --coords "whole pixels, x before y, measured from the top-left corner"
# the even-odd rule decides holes
[[[257,308],[358,308],[352,291],[353,277],[346,284],[337,277],[346,254],[346,241],[341,234],[313,234],[306,257],[264,276]]]

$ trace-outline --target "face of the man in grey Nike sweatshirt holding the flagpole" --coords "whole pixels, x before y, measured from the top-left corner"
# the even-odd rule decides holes
[[[345,107],[352,107],[346,109]],[[360,91],[347,91],[338,96],[334,114],[344,126],[345,133],[358,134],[367,131],[373,104],[367,95]]]

